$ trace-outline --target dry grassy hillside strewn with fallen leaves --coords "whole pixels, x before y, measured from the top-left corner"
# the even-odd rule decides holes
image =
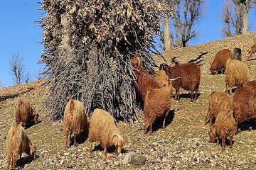
[[[18,98],[28,98],[39,112],[41,123],[27,129],[28,135],[38,146],[38,159],[31,162],[23,154],[23,169],[256,169],[256,130],[245,127],[234,137],[233,148],[222,151],[220,145],[208,142],[209,126],[204,125],[208,110],[208,96],[211,91],[225,91],[225,75],[210,75],[209,62],[223,48],[242,49],[242,61],[250,69],[252,79],[256,79],[256,54],[247,58],[247,50],[256,40],[256,33],[240,35],[235,38],[208,42],[203,45],[164,52],[167,62],[178,57],[179,62],[194,60],[201,64],[201,85],[198,101],[191,103],[188,91],[181,90],[181,101],[171,101],[166,130],[158,129],[154,135],[144,135],[142,111],[137,113],[139,121],[117,124],[124,136],[122,155],[112,154],[111,159],[102,157],[102,149],[95,147],[88,151],[88,140],[78,140],[77,148],[65,148],[63,121],[52,122],[46,117],[47,110],[40,110],[49,91],[43,82],[0,89],[0,169],[6,168],[6,134],[14,123],[14,111]],[[198,57],[201,52],[208,52]],[[161,57],[154,57],[157,64]],[[201,61],[201,62],[200,62]],[[255,123],[254,123],[255,124]],[[137,152],[146,157],[144,166],[123,165],[127,152]]]

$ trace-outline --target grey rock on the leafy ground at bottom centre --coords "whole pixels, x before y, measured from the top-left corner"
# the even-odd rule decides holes
[[[123,164],[134,164],[134,165],[144,165],[146,162],[146,157],[136,154],[135,152],[129,152],[124,156]]]

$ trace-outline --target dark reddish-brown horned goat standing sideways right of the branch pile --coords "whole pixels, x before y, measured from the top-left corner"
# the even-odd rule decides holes
[[[199,84],[201,80],[201,69],[197,64],[176,64],[174,67],[169,67],[167,64],[161,64],[160,69],[163,69],[170,79],[177,78],[171,81],[171,85],[176,90],[175,98],[180,99],[179,89],[182,87],[187,91],[191,91],[191,101],[197,98]],[[196,92],[194,97],[193,93]]]

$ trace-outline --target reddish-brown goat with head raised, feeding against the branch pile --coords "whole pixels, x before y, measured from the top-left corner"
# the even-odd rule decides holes
[[[145,101],[146,92],[151,89],[159,89],[161,86],[154,77],[152,77],[146,70],[142,68],[142,60],[138,55],[134,55],[131,59],[132,66],[134,67],[134,74],[137,77],[137,91],[142,101]]]

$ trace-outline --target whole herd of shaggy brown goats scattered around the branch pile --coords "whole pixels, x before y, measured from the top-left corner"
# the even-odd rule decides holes
[[[250,50],[256,52],[256,44]],[[256,118],[256,81],[252,81],[250,72],[241,61],[241,50],[235,48],[233,55],[230,50],[220,50],[215,55],[215,59],[210,64],[211,74],[225,71],[226,93],[213,91],[210,94],[208,113],[205,123],[210,123],[208,135],[210,142],[219,141],[221,137],[222,147],[225,149],[225,140],[230,139],[230,147],[238,125],[245,120]],[[165,120],[171,110],[172,88],[176,90],[175,98],[180,99],[180,87],[191,91],[191,101],[198,97],[198,88],[201,81],[201,69],[197,64],[178,64],[170,67],[167,64],[161,64],[160,70],[156,71],[156,77],[152,77],[142,67],[142,60],[138,55],[131,59],[134,67],[134,74],[137,80],[134,81],[137,94],[141,98],[144,112],[144,133],[146,134],[149,126],[152,134],[152,125],[156,118],[160,118],[162,126],[165,128]],[[228,95],[232,93],[232,88],[238,86],[233,97]],[[195,95],[194,95],[195,92]],[[15,169],[18,156],[26,152],[28,156],[36,159],[36,145],[26,135],[26,125],[31,120],[38,123],[38,114],[32,108],[31,103],[26,99],[19,99],[16,106],[16,123],[11,126],[6,140],[7,169],[12,162],[12,168]],[[70,99],[64,111],[64,133],[65,145],[69,147],[68,136],[73,133],[76,146],[76,135],[85,132],[90,141],[90,152],[92,152],[92,142],[100,142],[104,147],[104,155],[107,157],[107,147],[115,147],[114,152],[120,153],[124,146],[124,140],[114,118],[110,113],[96,108],[92,112],[90,119],[85,114],[85,107],[80,101]]]

